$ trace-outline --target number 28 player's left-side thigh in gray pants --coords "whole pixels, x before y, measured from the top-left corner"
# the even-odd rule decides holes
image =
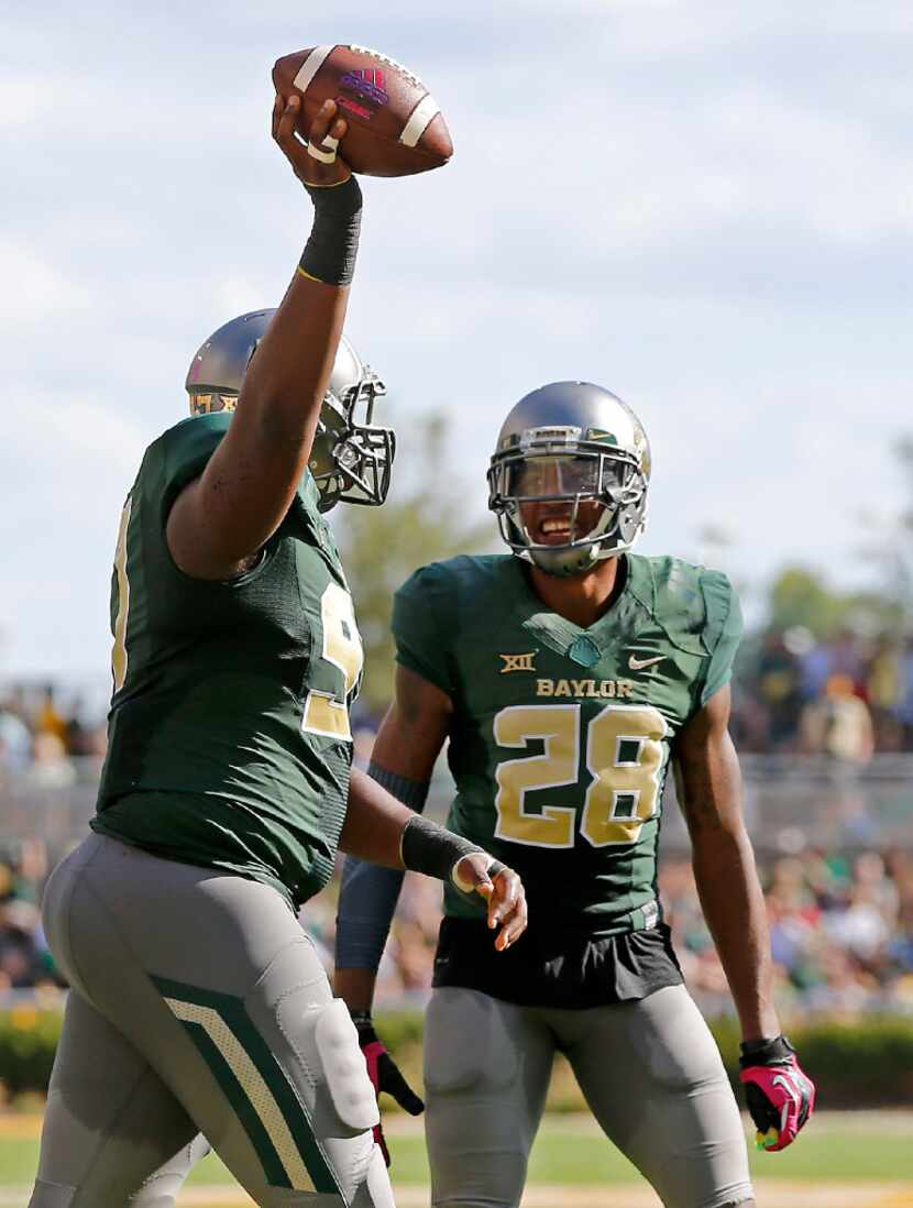
[[[548,1090],[551,1032],[524,1007],[441,988],[424,1051],[432,1204],[518,1204]]]

